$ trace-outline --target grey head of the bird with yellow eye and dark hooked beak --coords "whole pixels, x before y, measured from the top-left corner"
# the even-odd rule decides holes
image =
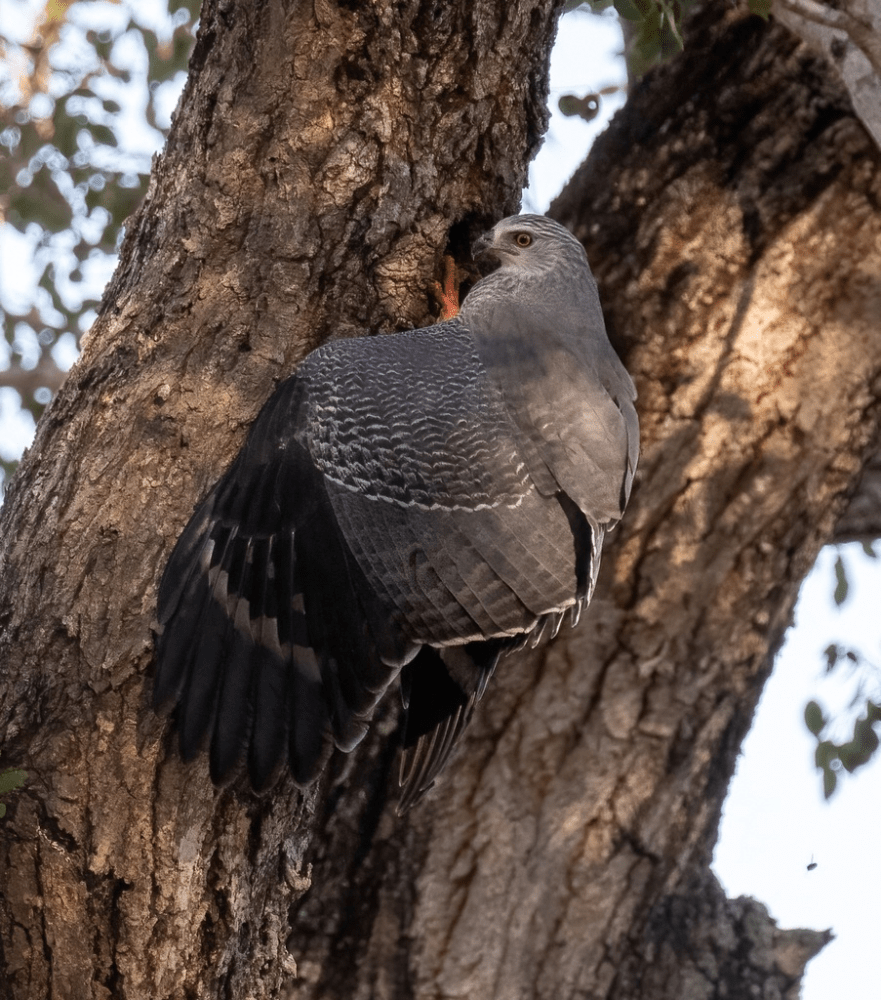
[[[568,229],[543,215],[509,215],[480,236],[471,252],[475,259],[487,255],[495,257],[502,267],[533,272],[587,264],[578,240]]]

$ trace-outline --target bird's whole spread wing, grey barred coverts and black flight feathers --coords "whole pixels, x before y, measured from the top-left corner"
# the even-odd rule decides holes
[[[424,644],[513,642],[582,599],[596,539],[536,488],[519,437],[457,321],[310,355],[163,576],[155,701],[179,706],[183,756],[207,740],[215,780],[246,754],[257,788],[285,758],[308,782],[327,735],[354,746]],[[466,708],[500,650],[472,657],[473,675],[458,656]],[[413,794],[470,710],[430,752],[434,729],[411,725]]]

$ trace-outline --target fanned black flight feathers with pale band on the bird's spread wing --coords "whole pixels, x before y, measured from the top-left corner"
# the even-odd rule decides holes
[[[296,437],[302,401],[296,377],[278,388],[160,584],[154,701],[179,705],[184,759],[208,740],[215,781],[247,750],[256,788],[285,757],[308,783],[328,732],[353,747],[417,649],[388,627],[336,528]]]

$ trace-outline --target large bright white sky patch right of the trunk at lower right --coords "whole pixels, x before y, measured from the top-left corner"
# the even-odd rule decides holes
[[[835,607],[837,552],[827,547],[802,586],[795,627],[744,742],[713,864],[729,896],[762,900],[781,927],[832,928],[835,940],[808,965],[803,1000],[881,996],[875,952],[881,943],[881,761],[845,775],[826,802],[813,765],[816,742],[804,723],[811,698],[846,715],[861,685],[876,700],[881,687],[877,666],[868,676],[848,674],[846,667],[826,674],[822,651],[830,642],[856,645],[881,662],[881,559],[866,558],[860,545],[841,552],[850,596]],[[811,863],[817,867],[808,871]]]

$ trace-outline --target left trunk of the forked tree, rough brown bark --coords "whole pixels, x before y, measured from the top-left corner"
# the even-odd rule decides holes
[[[289,977],[314,791],[220,792],[169,751],[145,685],[156,582],[273,380],[329,336],[427,322],[448,244],[466,256],[516,210],[558,8],[206,3],[3,510],[0,732],[30,776],[2,829],[4,997],[256,998]]]

